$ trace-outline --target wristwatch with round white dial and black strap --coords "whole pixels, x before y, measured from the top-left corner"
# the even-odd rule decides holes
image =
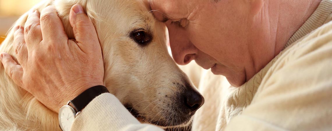
[[[62,106],[58,116],[60,128],[63,131],[69,131],[75,117],[81,112],[81,110],[102,93],[109,93],[109,91],[105,86],[94,86],[82,92],[73,100],[70,100],[67,105]]]

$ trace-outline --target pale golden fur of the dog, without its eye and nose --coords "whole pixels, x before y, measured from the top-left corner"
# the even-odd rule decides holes
[[[33,9],[54,5],[69,38],[73,38],[69,11],[81,4],[95,24],[102,46],[109,91],[141,122],[162,127],[188,126],[191,116],[181,111],[180,96],[194,90],[188,77],[167,53],[166,27],[156,22],[149,4],[142,0],[45,0]],[[15,25],[24,26],[28,14]],[[139,45],[130,34],[140,29],[151,42]],[[0,46],[0,52],[15,57],[13,30]],[[0,130],[60,130],[57,113],[43,106],[30,93],[18,87],[0,64]],[[65,105],[65,103],[64,103]]]

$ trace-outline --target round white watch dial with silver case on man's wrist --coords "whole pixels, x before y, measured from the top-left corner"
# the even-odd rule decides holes
[[[74,122],[74,118],[75,118],[75,110],[68,105],[63,106],[59,111],[60,128],[63,131],[69,131],[71,125]]]

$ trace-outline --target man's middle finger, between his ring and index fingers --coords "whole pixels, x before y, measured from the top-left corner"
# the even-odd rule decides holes
[[[24,24],[24,38],[28,47],[38,45],[42,40],[39,17],[38,11],[30,11],[27,22]]]

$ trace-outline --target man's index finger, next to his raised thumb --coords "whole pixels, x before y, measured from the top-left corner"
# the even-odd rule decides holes
[[[67,43],[68,36],[54,6],[47,6],[43,9],[40,23],[43,41],[50,44]]]

